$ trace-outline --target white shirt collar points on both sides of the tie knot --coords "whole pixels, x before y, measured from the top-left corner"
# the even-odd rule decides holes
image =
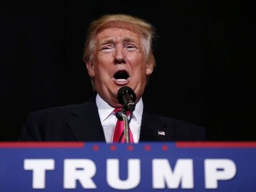
[[[100,116],[100,121],[103,122],[114,111],[114,108],[109,106],[108,102],[104,101],[99,94],[96,95],[96,105]],[[135,119],[140,123],[142,122],[143,101],[142,98],[137,102],[133,112]]]

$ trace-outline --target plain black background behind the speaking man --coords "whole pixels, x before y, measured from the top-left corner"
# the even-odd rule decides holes
[[[157,67],[143,96],[168,117],[202,125],[208,140],[255,140],[253,1],[1,1],[0,141],[32,111],[93,95],[83,45],[103,14],[156,27]]]

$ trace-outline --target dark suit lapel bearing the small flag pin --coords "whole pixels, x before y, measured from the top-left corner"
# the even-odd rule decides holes
[[[140,141],[171,141],[173,139],[173,128],[164,123],[160,115],[155,114],[147,106],[144,106]]]

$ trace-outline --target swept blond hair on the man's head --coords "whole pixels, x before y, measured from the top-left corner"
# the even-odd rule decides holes
[[[90,24],[87,40],[85,41],[83,61],[89,62],[93,60],[96,34],[104,27],[114,27],[116,25],[131,25],[138,33],[142,33],[142,43],[145,48],[147,61],[148,63],[153,62],[155,65],[155,57],[153,56],[152,50],[152,39],[155,34],[153,26],[145,20],[139,19],[138,17],[124,14],[104,15],[103,17],[100,17],[100,19],[94,20]]]

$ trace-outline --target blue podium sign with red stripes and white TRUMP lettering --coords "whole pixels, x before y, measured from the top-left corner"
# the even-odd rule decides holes
[[[256,191],[256,142],[0,143],[0,191]]]

